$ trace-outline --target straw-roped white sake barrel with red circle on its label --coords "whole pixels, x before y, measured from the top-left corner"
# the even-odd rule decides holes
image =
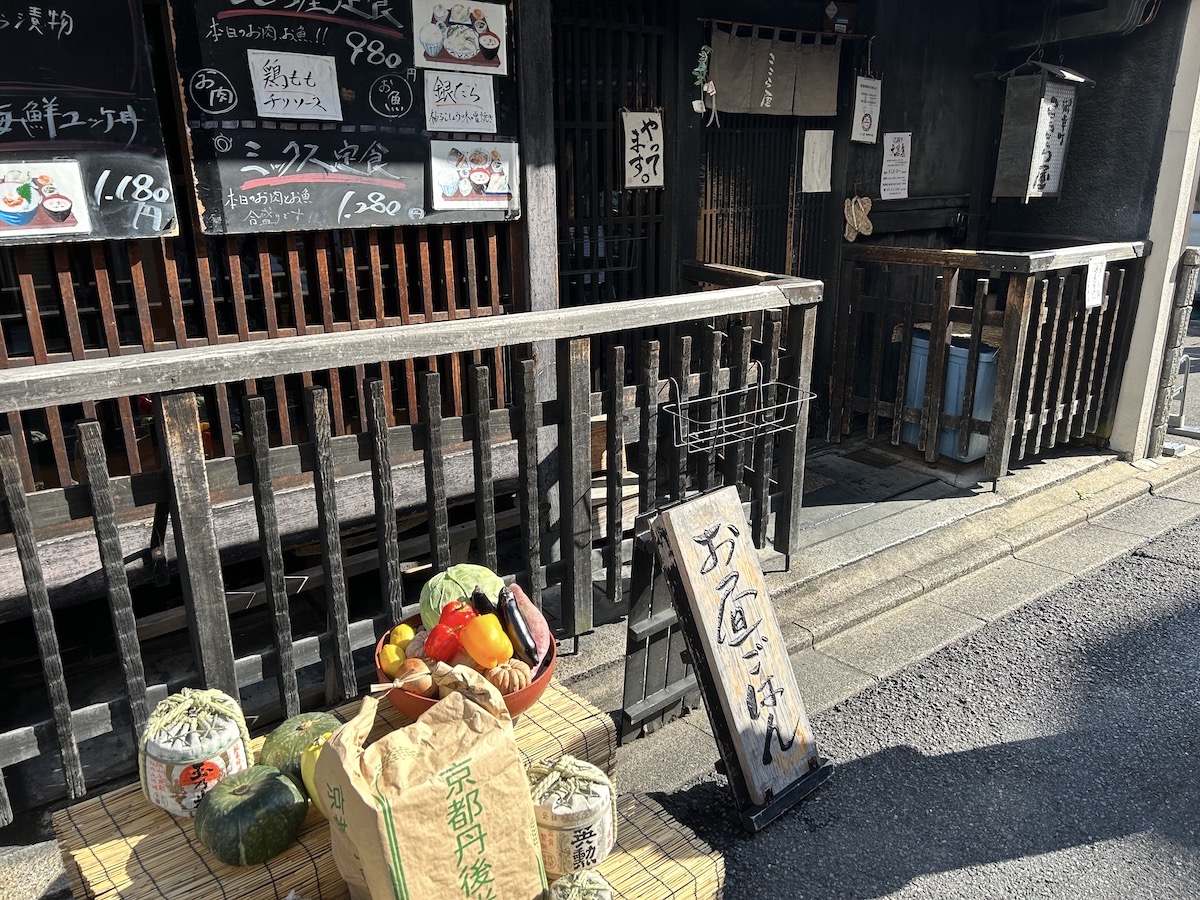
[[[173,816],[193,816],[212,786],[254,762],[246,716],[218,690],[185,688],[154,708],[138,742],[142,791]]]

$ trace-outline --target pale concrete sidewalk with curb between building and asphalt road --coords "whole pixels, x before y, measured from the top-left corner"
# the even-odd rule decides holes
[[[810,460],[806,487],[821,486],[805,494],[805,550],[768,583],[811,715],[1200,517],[1200,452],[1138,464],[1075,452],[996,491],[978,475],[887,445]],[[618,714],[624,650],[623,622],[598,628],[558,678]],[[697,709],[617,758],[623,792],[672,791],[712,772],[718,751]],[[16,845],[0,847],[0,900],[68,895],[48,820],[0,832]]]

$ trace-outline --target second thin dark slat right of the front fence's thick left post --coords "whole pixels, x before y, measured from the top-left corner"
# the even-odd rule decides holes
[[[325,628],[331,653],[325,659],[325,702],[335,703],[358,695],[354,658],[350,655],[350,623],[342,566],[342,540],[338,533],[337,490],[334,457],[330,452],[329,398],[322,388],[305,392],[308,437],[317,456],[312,472],[317,498],[317,529],[320,533],[320,568],[325,576]]]

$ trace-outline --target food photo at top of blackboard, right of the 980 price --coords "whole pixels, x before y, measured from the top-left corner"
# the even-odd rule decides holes
[[[413,0],[416,65],[508,74],[508,22],[502,4]]]

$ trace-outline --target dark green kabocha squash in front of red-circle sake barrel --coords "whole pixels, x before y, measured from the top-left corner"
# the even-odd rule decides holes
[[[196,838],[227,865],[262,865],[296,839],[308,799],[274,766],[227,775],[196,810]]]

